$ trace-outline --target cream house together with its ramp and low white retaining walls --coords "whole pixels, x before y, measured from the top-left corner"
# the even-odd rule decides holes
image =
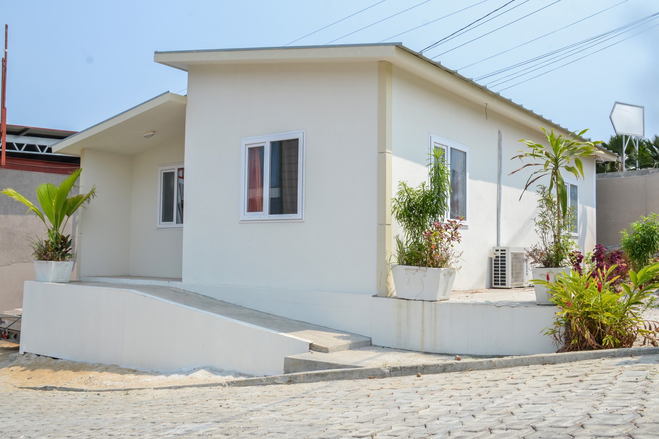
[[[188,72],[186,96],[163,93],[53,145],[80,155],[81,190],[98,188],[78,225],[76,272],[89,282],[26,283],[24,351],[272,374],[316,343],[264,327],[270,317],[217,311],[204,296],[376,346],[554,350],[542,335],[554,309],[530,292],[515,303],[382,296],[399,233],[391,197],[401,180],[426,180],[432,147],[451,167],[449,214],[465,217],[454,289],[485,288],[494,245],[537,240],[535,194],[518,201],[527,175],[509,176],[517,141],[542,142],[540,126],[568,130],[395,43],[157,52],[155,61]],[[587,251],[595,158],[584,168],[585,180],[566,180],[574,238]],[[53,319],[80,339],[51,335]]]

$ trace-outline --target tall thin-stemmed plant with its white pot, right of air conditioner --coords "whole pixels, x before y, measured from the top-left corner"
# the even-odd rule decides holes
[[[567,207],[567,188],[561,170],[573,174],[577,180],[584,178],[581,159],[595,155],[597,151],[595,145],[602,142],[581,142],[579,139],[588,130],[583,130],[578,134],[575,132],[566,137],[562,134],[556,136],[554,130],[548,133],[544,128],[541,129],[544,132],[548,146],[530,140],[519,140],[519,142],[525,143],[529,150],[519,151],[519,155],[515,155],[513,159],[531,158],[536,159],[536,161],[513,170],[510,175],[526,167],[540,167],[540,169],[530,174],[519,199],[539,178],[545,175],[550,178],[549,187],[540,186],[540,190],[538,190],[540,212],[535,222],[538,227],[536,232],[540,236],[541,243],[531,247],[527,257],[529,257],[532,265],[536,266],[532,268],[534,280],[553,282],[556,274],[571,270],[569,253],[575,245],[571,240],[570,230],[574,213],[571,213]],[[554,197],[552,191],[555,191],[556,197]],[[534,282],[536,303],[538,305],[553,305],[549,300],[551,297],[548,294],[550,293],[543,285]]]

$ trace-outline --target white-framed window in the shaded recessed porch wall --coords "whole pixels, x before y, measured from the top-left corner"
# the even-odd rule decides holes
[[[158,228],[183,228],[183,163],[158,168]]]

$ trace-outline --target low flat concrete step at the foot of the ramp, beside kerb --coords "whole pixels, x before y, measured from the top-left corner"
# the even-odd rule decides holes
[[[466,356],[463,356],[463,358],[467,359]],[[349,369],[353,367],[433,364],[453,359],[455,359],[455,355],[368,346],[331,353],[306,352],[289,355],[284,359],[284,373]]]

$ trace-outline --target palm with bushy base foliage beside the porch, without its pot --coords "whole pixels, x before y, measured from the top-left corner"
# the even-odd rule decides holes
[[[65,236],[63,234],[64,229],[72,215],[84,203],[89,203],[92,198],[96,197],[96,186],[93,186],[92,190],[86,194],[69,195],[75,187],[80,172],[82,172],[82,168],[74,170],[59,186],[52,183],[43,183],[37,186],[36,194],[41,209],[16,190],[7,188],[0,191],[0,194],[5,194],[26,205],[28,207],[26,213],[34,212],[45,224],[48,238],[32,242],[32,249],[34,249],[34,255],[37,259],[48,258],[40,260],[67,261],[73,257],[71,253],[71,236]]]

